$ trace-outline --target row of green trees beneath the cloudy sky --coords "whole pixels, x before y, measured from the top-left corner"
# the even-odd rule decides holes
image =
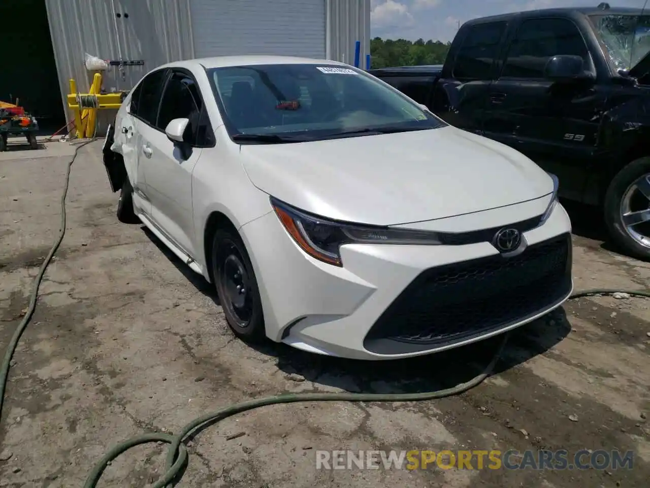
[[[370,67],[417,66],[420,64],[443,64],[450,42],[418,39],[386,39],[376,37],[370,40]]]

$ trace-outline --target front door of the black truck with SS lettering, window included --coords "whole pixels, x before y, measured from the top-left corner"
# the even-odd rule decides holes
[[[490,87],[485,135],[523,152],[560,179],[560,195],[580,200],[596,151],[606,97],[593,81],[555,83],[544,76],[556,55],[582,57],[594,70],[580,29],[567,18],[530,18],[508,47]]]

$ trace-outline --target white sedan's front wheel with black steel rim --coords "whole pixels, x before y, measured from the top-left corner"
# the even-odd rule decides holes
[[[221,228],[214,232],[212,267],[216,293],[231,331],[245,342],[264,340],[266,329],[257,278],[244,242],[235,230]],[[237,293],[237,284],[244,293]]]

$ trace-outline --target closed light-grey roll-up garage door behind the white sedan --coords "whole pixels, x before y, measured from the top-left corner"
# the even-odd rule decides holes
[[[325,57],[325,0],[190,0],[196,57]]]

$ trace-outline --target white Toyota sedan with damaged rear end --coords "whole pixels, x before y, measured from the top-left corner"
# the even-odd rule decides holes
[[[244,340],[422,355],[519,327],[573,288],[556,178],[346,64],[166,64],[103,152],[118,219],[213,283]]]

